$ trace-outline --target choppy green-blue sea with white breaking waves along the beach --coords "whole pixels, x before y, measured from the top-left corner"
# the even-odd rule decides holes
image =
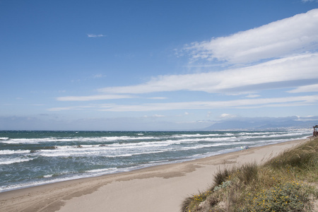
[[[0,131],[0,192],[306,139],[272,131]]]

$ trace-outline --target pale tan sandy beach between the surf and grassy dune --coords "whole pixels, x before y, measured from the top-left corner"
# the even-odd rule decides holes
[[[213,174],[219,168],[262,163],[304,141],[3,192],[0,211],[179,211],[185,197],[213,183]]]

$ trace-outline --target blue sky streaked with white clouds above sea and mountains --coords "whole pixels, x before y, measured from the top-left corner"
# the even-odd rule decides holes
[[[0,79],[0,130],[318,120],[318,1],[0,0]]]

